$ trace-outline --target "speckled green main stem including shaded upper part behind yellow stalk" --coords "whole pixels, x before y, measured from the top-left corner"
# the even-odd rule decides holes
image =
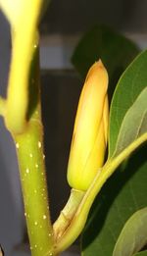
[[[31,255],[55,256],[43,155],[37,48],[29,72],[25,130],[21,134],[15,133],[13,130],[10,131],[15,140],[18,154]]]

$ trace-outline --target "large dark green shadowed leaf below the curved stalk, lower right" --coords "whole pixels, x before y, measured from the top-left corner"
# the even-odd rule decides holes
[[[128,218],[147,206],[147,145],[118,169],[98,194],[82,234],[82,256],[110,256]]]

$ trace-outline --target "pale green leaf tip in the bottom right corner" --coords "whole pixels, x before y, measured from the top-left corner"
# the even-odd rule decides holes
[[[125,223],[113,256],[131,256],[147,244],[147,207],[135,212]]]

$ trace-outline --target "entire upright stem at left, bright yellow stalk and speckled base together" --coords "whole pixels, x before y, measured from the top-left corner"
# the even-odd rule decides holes
[[[0,99],[0,114],[16,143],[32,256],[55,255],[39,95],[36,30],[43,4],[43,0],[22,1],[17,9],[2,1],[2,8],[11,22],[13,49],[7,100],[5,103]]]

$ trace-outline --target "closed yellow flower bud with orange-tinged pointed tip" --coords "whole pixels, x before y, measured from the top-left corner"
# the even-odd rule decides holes
[[[79,98],[68,165],[74,189],[87,190],[103,166],[108,133],[108,74],[101,60],[90,68]]]

